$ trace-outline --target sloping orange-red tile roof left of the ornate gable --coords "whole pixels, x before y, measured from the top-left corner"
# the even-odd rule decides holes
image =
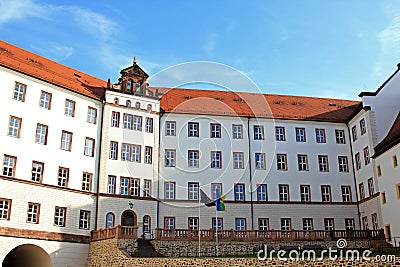
[[[94,99],[107,82],[0,40],[0,65]]]

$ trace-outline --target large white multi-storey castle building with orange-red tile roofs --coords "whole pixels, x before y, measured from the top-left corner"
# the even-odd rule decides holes
[[[84,266],[91,231],[400,236],[398,70],[362,101],[104,81],[0,42],[0,260]],[[202,196],[225,195],[225,212]],[[11,256],[10,256],[11,255]]]

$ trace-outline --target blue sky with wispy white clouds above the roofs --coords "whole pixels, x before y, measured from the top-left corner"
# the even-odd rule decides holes
[[[0,10],[0,39],[114,82],[133,56],[150,75],[212,61],[264,93],[357,99],[400,62],[398,0],[0,0]]]

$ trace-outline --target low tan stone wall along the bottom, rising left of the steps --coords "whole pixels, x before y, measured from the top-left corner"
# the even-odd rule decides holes
[[[121,241],[122,242],[122,241]],[[167,241],[166,241],[167,242]],[[181,242],[181,241],[179,241]],[[400,258],[395,262],[379,263],[374,261],[280,261],[279,259],[260,261],[257,258],[130,258],[118,249],[118,244],[129,245],[125,241],[119,243],[117,239],[107,239],[90,243],[88,267],[100,266],[205,266],[205,267],[229,267],[229,266],[324,266],[324,267],[372,267],[372,266],[399,266]],[[160,244],[154,244],[160,245]],[[283,244],[282,244],[283,245]]]

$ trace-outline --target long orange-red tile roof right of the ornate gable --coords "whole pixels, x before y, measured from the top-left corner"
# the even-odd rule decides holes
[[[360,101],[216,90],[160,88],[164,112],[347,122]]]

